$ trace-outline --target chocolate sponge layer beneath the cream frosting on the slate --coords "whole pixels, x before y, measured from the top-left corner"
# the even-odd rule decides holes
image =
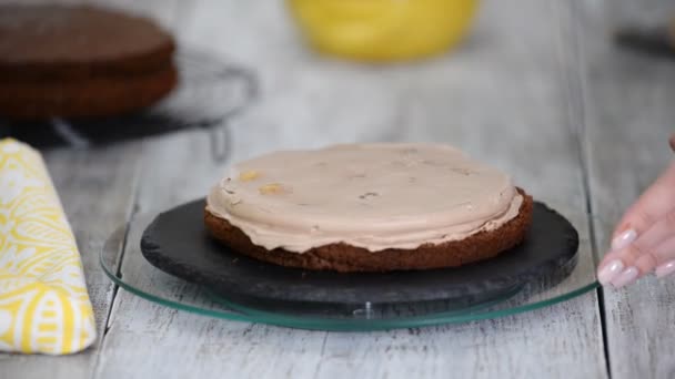
[[[390,272],[456,267],[492,258],[520,244],[532,221],[533,201],[518,190],[523,202],[518,214],[492,231],[483,231],[464,239],[441,244],[424,244],[414,249],[384,249],[370,252],[343,243],[294,253],[275,248],[268,250],[251,239],[226,219],[204,213],[204,222],[211,235],[233,250],[275,265],[311,270]]]

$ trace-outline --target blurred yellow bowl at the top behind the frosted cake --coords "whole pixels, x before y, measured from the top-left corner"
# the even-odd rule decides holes
[[[477,0],[286,0],[320,52],[385,62],[445,52],[466,34]]]

